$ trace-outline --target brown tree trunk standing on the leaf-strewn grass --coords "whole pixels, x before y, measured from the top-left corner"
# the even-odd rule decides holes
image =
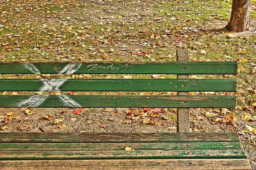
[[[250,27],[250,0],[233,0],[230,21],[226,29],[234,32],[247,31]]]

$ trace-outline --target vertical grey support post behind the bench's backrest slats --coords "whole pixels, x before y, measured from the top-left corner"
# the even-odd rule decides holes
[[[177,49],[177,61],[188,61],[188,49]],[[185,69],[185,68],[183,68]],[[189,78],[188,74],[177,74],[177,78]],[[178,95],[189,95],[189,92],[178,92]],[[177,132],[189,132],[189,108],[177,109]]]

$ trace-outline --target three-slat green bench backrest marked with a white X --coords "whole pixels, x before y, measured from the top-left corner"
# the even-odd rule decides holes
[[[236,74],[237,62],[2,61],[0,74]],[[1,91],[236,91],[234,79],[0,79]],[[0,95],[0,107],[235,107],[236,96]]]

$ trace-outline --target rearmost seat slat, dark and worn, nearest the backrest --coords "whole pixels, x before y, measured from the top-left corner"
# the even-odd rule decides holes
[[[237,133],[0,133],[0,143],[239,142]]]

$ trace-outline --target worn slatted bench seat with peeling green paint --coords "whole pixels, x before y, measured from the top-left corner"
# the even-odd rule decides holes
[[[0,141],[2,169],[251,169],[237,133],[0,133]]]

